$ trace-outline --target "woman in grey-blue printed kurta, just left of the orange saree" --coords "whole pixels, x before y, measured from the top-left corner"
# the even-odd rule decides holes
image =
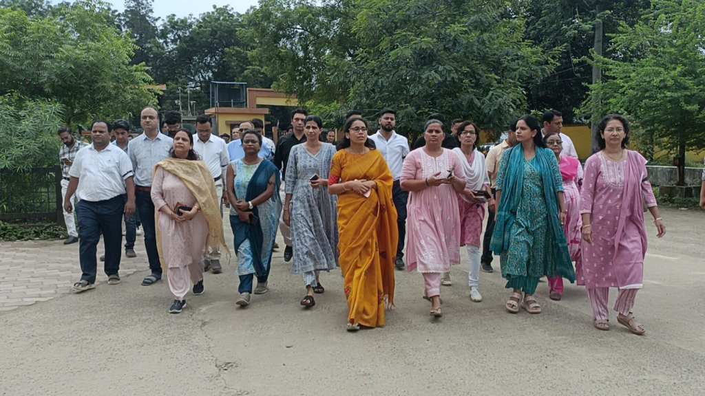
[[[320,271],[338,266],[336,195],[328,193],[328,175],[336,149],[319,140],[321,118],[308,116],[306,142],[291,149],[286,167],[286,201],[283,220],[291,227],[291,273],[304,278],[307,295],[301,305],[313,307],[313,294],[321,294]],[[312,180],[313,179],[313,180]]]

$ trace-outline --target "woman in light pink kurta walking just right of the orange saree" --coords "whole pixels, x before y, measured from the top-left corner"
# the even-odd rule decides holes
[[[455,192],[465,190],[465,173],[458,156],[441,147],[445,132],[439,120],[424,128],[426,145],[404,160],[401,188],[407,203],[408,271],[424,276],[431,315],[441,314],[441,273],[460,264],[460,214]]]

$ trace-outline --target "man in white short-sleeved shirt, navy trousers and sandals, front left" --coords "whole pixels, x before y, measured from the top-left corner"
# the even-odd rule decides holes
[[[98,120],[91,125],[92,144],[78,151],[68,174],[68,191],[63,209],[71,213],[71,196],[78,188],[78,237],[81,280],[73,284],[78,292],[95,287],[98,260],[96,247],[103,233],[105,273],[108,284],[120,283],[123,213],[135,213],[135,183],[132,162],[125,151],[110,144],[109,123]],[[126,193],[126,194],[125,194]]]

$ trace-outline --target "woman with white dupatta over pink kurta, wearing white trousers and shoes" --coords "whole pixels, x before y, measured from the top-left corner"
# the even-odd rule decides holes
[[[484,190],[489,194],[489,200],[469,198],[465,194],[457,193],[458,209],[460,209],[460,245],[465,245],[467,257],[470,259],[467,283],[470,286],[470,299],[481,302],[482,295],[478,290],[480,278],[480,235],[482,234],[482,220],[485,214],[485,202],[489,203],[490,210],[494,212],[495,202],[489,188],[489,174],[485,164],[484,155],[477,149],[479,128],[470,121],[464,121],[458,127],[458,140],[460,148],[453,149],[462,163],[465,171],[465,188],[470,191]]]

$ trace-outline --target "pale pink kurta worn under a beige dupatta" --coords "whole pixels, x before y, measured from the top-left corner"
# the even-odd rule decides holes
[[[159,210],[168,206],[173,210],[178,202],[185,206],[196,204],[196,197],[178,176],[158,167],[152,180],[152,202]],[[208,237],[208,221],[199,211],[190,221],[177,223],[169,216],[159,216],[161,252],[167,268],[183,268],[203,261],[203,249]]]

